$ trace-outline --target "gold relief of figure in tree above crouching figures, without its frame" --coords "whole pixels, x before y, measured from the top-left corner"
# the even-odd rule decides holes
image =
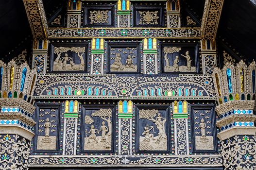
[[[155,117],[155,118],[154,118]],[[165,132],[166,118],[162,118],[158,110],[139,110],[139,119],[151,120],[153,126],[145,126],[144,132],[139,136],[139,150],[140,151],[166,151],[167,150],[167,136]],[[154,136],[155,129],[158,134]]]

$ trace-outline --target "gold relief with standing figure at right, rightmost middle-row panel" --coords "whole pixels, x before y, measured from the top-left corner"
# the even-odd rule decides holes
[[[166,65],[164,66],[165,72],[174,72],[174,71],[180,71],[180,72],[195,72],[196,67],[191,67],[191,57],[189,55],[189,51],[186,51],[185,55],[180,54],[181,56],[185,57],[187,59],[187,66],[179,66],[178,63],[180,62],[179,56],[176,55],[175,59],[173,60],[173,65],[170,66],[170,58],[167,57],[168,54],[172,54],[173,52],[179,52],[181,51],[181,48],[178,47],[164,47],[164,59],[166,62]]]

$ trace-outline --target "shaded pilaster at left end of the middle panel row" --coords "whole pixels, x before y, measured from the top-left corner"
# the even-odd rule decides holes
[[[35,38],[33,43],[32,67],[36,68],[37,73],[46,73],[48,56],[48,40]]]

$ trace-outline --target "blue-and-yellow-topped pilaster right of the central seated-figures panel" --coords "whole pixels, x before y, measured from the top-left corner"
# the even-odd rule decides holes
[[[145,38],[143,40],[143,73],[157,74],[157,40]]]

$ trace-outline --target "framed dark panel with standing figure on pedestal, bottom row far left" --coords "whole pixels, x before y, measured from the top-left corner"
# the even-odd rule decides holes
[[[61,135],[60,132],[63,122],[60,113],[61,104],[59,103],[36,103],[36,112],[33,117],[37,124],[34,127],[32,154],[61,154],[63,134]]]

